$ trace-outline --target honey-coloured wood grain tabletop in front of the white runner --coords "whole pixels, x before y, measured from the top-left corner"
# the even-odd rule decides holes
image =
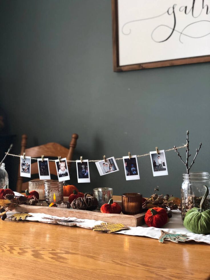
[[[210,279],[210,247],[0,219],[0,279]]]

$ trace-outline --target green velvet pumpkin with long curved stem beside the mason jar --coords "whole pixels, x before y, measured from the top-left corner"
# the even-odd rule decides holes
[[[193,233],[210,234],[210,210],[203,209],[203,204],[209,194],[209,189],[206,187],[206,193],[203,196],[200,208],[192,208],[184,218],[184,227]]]

